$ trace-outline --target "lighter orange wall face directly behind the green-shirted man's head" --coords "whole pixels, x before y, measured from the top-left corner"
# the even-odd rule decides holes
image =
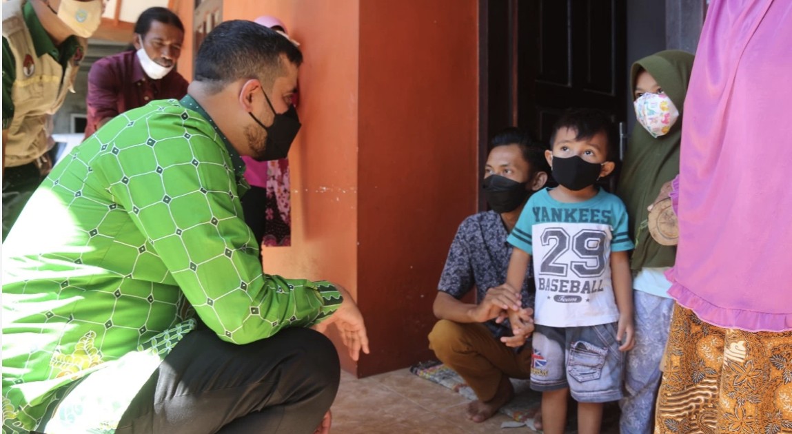
[[[265,14],[284,21],[304,57],[298,108],[303,128],[289,151],[292,247],[266,248],[265,270],[331,280],[355,296],[358,2],[224,2],[223,20]],[[356,371],[346,353],[339,354],[345,369]]]

